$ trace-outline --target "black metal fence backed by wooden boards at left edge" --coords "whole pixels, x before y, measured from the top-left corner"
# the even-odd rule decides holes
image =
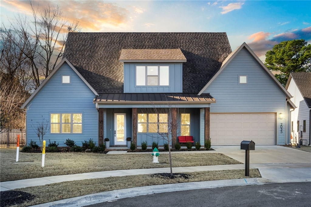
[[[20,147],[26,144],[25,129],[0,129],[0,148],[16,147],[17,135],[20,135]]]

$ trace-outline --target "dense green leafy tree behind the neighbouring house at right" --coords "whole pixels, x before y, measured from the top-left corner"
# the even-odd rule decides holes
[[[304,39],[276,44],[267,51],[265,65],[269,70],[281,72],[275,76],[285,86],[291,72],[311,71],[311,44]]]

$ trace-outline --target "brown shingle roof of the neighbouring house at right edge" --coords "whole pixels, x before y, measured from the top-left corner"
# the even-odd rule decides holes
[[[290,73],[290,75],[298,86],[308,107],[311,108],[311,72],[294,72]]]

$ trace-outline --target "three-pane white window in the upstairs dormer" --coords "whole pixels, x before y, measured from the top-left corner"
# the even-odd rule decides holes
[[[169,66],[136,66],[136,85],[169,85]]]

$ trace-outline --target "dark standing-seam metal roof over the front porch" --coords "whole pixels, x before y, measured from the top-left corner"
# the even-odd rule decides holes
[[[93,103],[99,104],[139,104],[139,103],[215,103],[210,94],[100,94]]]

